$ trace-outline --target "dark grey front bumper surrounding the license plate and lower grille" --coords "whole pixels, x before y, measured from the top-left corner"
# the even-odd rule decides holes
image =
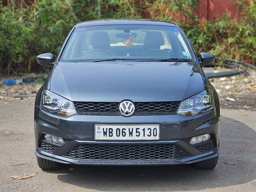
[[[63,164],[84,165],[176,165],[190,164],[214,158],[219,155],[219,116],[215,109],[194,117],[181,115],[155,115],[155,116],[86,116],[74,115],[68,118],[55,116],[42,112],[35,107],[35,139],[36,156]],[[95,124],[159,124],[160,140],[157,141],[101,141],[94,139]],[[40,148],[41,135],[47,133],[60,136],[66,140],[65,144],[58,146],[52,152]],[[214,136],[215,147],[208,151],[189,144],[190,138],[211,133]],[[80,144],[172,144],[186,151],[189,156],[178,159],[143,159],[143,160],[101,160],[70,158],[65,154]]]

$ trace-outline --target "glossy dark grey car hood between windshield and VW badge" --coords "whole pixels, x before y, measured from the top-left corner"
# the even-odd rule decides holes
[[[204,82],[195,62],[59,62],[50,90],[72,101],[182,101]]]

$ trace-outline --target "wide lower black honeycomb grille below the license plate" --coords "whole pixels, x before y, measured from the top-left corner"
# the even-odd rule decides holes
[[[175,144],[78,144],[64,156],[79,160],[173,160],[190,154]]]

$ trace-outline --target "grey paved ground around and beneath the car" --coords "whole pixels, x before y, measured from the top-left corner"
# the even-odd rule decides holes
[[[46,172],[38,168],[34,156],[33,105],[32,99],[0,100],[0,192],[256,191],[255,111],[221,111],[221,155],[214,170],[70,166]],[[25,180],[10,178],[31,172],[38,174]]]

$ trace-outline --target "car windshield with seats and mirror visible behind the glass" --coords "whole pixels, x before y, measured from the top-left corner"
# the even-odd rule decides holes
[[[60,62],[171,59],[193,60],[178,27],[108,25],[76,28],[64,48]]]

